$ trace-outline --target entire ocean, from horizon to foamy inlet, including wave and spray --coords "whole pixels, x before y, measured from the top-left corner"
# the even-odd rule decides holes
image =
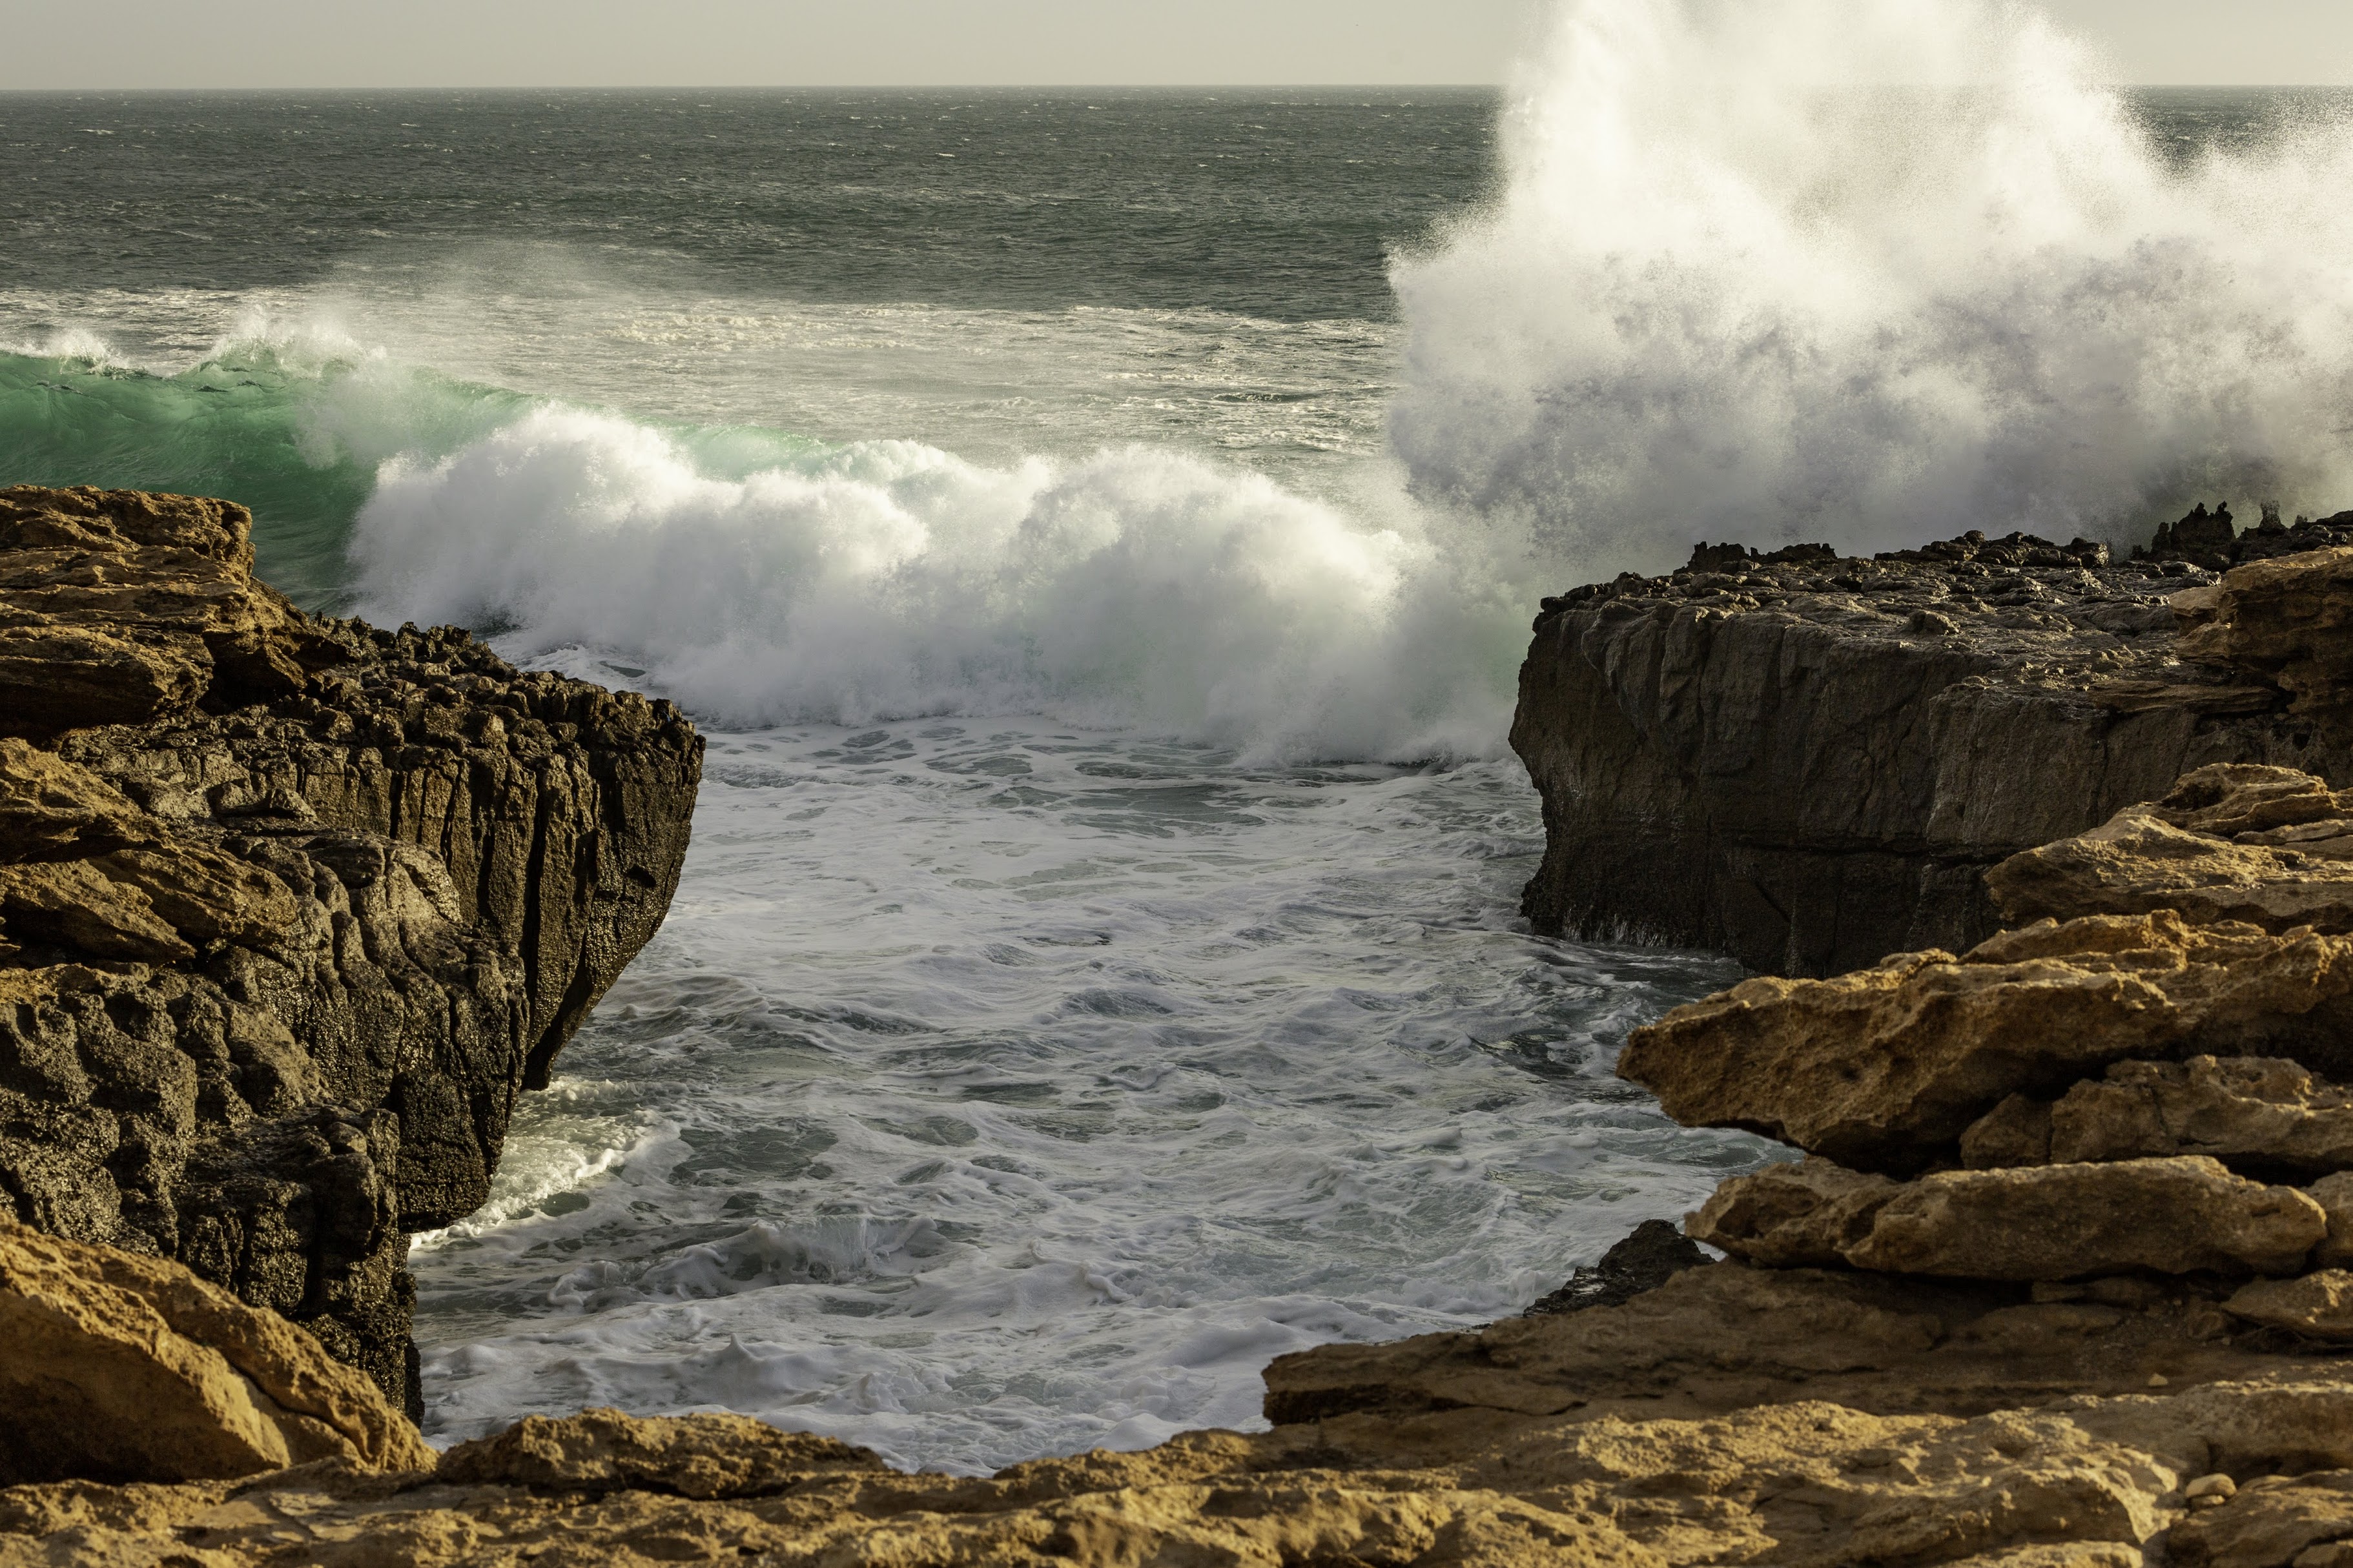
[[[245,501],[304,604],[711,738],[416,1239],[435,1441],[1247,1427],[1769,1154],[1609,1072],[1737,969],[1515,914],[1534,599],[2346,505],[2353,136],[1762,9],[1591,0],[1506,92],[0,96],[0,482]],[[1824,82],[1889,56],[1972,85]]]

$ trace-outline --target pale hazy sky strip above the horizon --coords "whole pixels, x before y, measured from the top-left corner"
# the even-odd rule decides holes
[[[0,87],[1494,82],[1537,5],[12,0]],[[2353,82],[2353,0],[2047,5],[2118,80]]]

